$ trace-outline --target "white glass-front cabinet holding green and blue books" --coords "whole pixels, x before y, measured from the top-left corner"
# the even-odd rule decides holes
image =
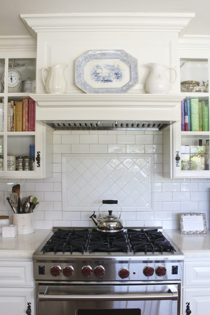
[[[174,128],[174,176],[209,178],[209,60],[180,59],[180,121]]]

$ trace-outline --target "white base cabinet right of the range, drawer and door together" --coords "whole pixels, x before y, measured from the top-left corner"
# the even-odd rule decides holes
[[[186,258],[184,261],[182,312],[186,313],[190,303],[193,315],[209,315],[210,312],[210,259],[203,261]]]

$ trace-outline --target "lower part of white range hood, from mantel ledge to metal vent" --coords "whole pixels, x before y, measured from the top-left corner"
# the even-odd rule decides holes
[[[36,119],[54,129],[162,130],[180,118],[181,95],[36,94]],[[109,123],[108,123],[109,121]]]

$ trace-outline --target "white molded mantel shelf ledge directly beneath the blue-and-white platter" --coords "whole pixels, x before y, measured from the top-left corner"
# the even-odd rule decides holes
[[[45,108],[174,108],[183,99],[181,94],[30,94]]]

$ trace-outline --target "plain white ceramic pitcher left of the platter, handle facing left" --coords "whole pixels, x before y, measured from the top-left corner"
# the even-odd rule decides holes
[[[42,69],[42,79],[47,93],[66,93],[67,82],[64,71],[67,66],[66,63],[60,63],[53,67],[45,67]],[[45,76],[47,77],[46,79]]]

